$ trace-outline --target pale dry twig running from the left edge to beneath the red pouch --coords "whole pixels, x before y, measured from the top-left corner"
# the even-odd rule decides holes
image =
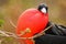
[[[15,38],[22,38],[22,40],[26,40],[26,38],[29,38],[29,37],[20,37],[20,36],[18,36],[18,35],[14,34],[14,33],[6,32],[6,31],[1,31],[1,30],[0,30],[0,36],[15,37]]]

